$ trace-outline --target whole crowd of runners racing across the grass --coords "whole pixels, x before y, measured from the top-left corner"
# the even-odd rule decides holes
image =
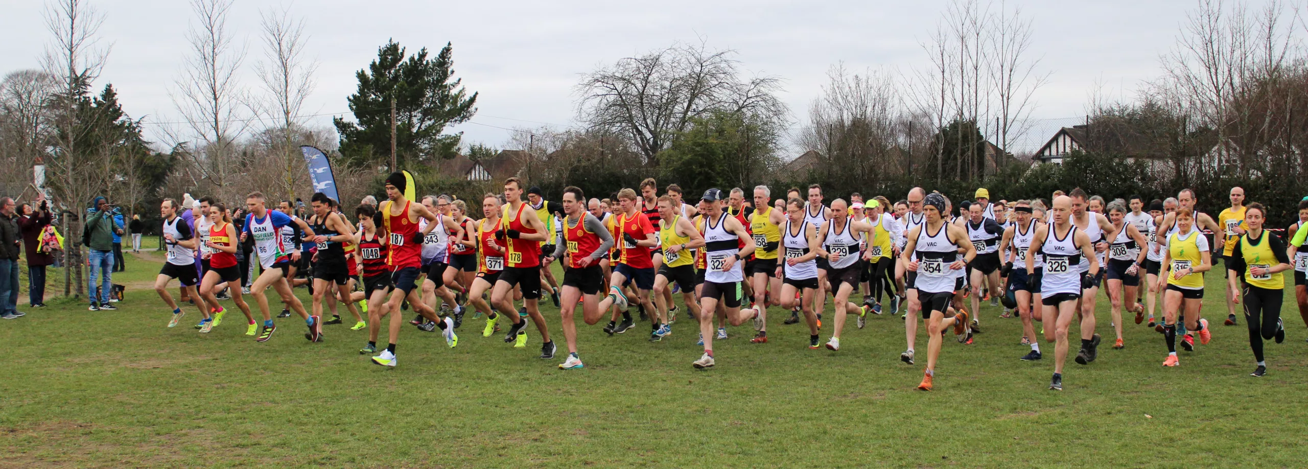
[[[906,364],[917,362],[918,328],[926,325],[926,364],[917,388],[930,391],[946,336],[952,332],[957,342],[973,344],[986,302],[998,317],[1020,317],[1020,359],[1040,361],[1040,342],[1046,350],[1053,344],[1050,389],[1062,389],[1071,329],[1080,338],[1074,361],[1088,364],[1097,357],[1100,289],[1112,304],[1113,348],[1126,346],[1124,314],[1134,314],[1135,324],[1147,321],[1163,336],[1150,346],[1162,351],[1165,345],[1167,367],[1180,364],[1177,342],[1194,351],[1196,341],[1211,340],[1201,303],[1205,273],[1219,264],[1227,280],[1224,324],[1239,324],[1236,310],[1243,308],[1257,362],[1253,376],[1266,372],[1264,341],[1284,340],[1287,270],[1294,270],[1308,325],[1308,251],[1300,250],[1308,238],[1308,230],[1300,230],[1308,221],[1308,197],[1299,205],[1299,221],[1274,234],[1269,230],[1275,227],[1265,226],[1266,209],[1245,204],[1241,188],[1232,188],[1231,206],[1213,217],[1196,210],[1190,189],[1152,201],[1105,201],[1079,188],[1048,200],[993,201],[980,188],[973,200],[955,205],[922,188],[895,202],[858,193],[828,202],[818,184],[790,188],[785,197],[759,186],[749,199],[740,188],[712,188],[692,205],[680,187],[670,184],[661,193],[653,179],[612,200],[587,199],[568,187],[559,201],[549,201],[539,188],[510,178],[502,193],[477,201],[484,218],[473,219],[464,200],[409,200],[411,184],[403,172],[391,174],[387,200],[365,200],[352,212],[315,193],[307,219],[289,202],[269,208],[259,192],[246,197],[242,212],[201,199],[194,205],[199,212],[186,217],[194,223],[183,221],[182,205],[165,200],[167,260],[156,291],[173,310],[169,327],[186,314],[167,291],[177,278],[183,295],[196,299],[195,328],[201,333],[221,324],[226,311],[218,299],[230,293],[247,320],[246,334],[268,341],[277,331],[267,297],[272,287],[284,306],[279,317],[292,311],[302,317],[305,338],[313,342],[323,340],[324,324],[341,323],[337,311],[344,306],[353,329],[369,333],[358,353],[377,364],[396,366],[405,311],[415,314],[412,325],[439,329],[450,348],[458,345],[455,331],[470,310],[472,320],[484,317],[483,337],[502,332],[515,348],[527,345],[530,319],[542,341],[540,358],[551,359],[557,346],[539,308],[548,298],[560,310],[568,348],[560,368],[585,366],[574,319],[581,308],[586,325],[607,319],[608,334],[647,320],[650,341],[670,337],[678,315],[689,317],[698,323],[704,348],[692,366],[708,370],[718,358],[713,341],[727,338],[727,324],[751,321],[756,334],[749,341],[768,344],[769,307],[790,311],[782,324],[807,325],[810,349],[832,351],[841,348],[846,317],[854,316],[862,329],[869,315],[901,314],[906,350],[900,359]],[[245,214],[243,222],[233,222],[237,213]],[[252,244],[249,273],[237,261],[242,243]],[[561,264],[561,280],[552,263]],[[309,280],[298,280],[297,270],[307,270]],[[309,308],[293,293],[300,282],[313,293]],[[678,294],[685,311],[674,303]],[[262,324],[245,295],[254,297]],[[326,321],[324,306],[332,315]],[[832,311],[825,344],[824,311]]]

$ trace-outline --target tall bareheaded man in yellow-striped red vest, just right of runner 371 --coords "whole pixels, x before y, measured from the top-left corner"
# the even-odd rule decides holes
[[[555,342],[549,340],[549,329],[545,328],[545,317],[540,315],[540,242],[544,242],[549,233],[545,223],[536,216],[536,210],[528,210],[523,201],[522,180],[509,178],[504,183],[504,199],[508,204],[502,206],[504,217],[500,230],[496,233],[494,243],[505,247],[505,267],[496,280],[490,291],[490,300],[509,319],[513,325],[505,336],[505,342],[515,342],[515,348],[527,344],[527,333],[523,331],[526,321],[513,314],[513,287],[522,290],[523,306],[531,321],[536,323],[540,337],[544,341],[540,358],[555,357]]]

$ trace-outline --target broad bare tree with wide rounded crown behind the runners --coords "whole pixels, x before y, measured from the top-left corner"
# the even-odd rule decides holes
[[[650,166],[693,118],[712,111],[785,112],[780,78],[740,77],[735,51],[674,44],[582,76],[581,120],[627,135]]]

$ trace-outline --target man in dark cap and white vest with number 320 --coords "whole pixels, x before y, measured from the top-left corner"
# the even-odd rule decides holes
[[[722,210],[723,193],[721,189],[710,188],[701,199],[708,204],[705,213],[704,252],[708,269],[704,273],[704,285],[700,295],[700,334],[704,338],[704,355],[695,361],[698,370],[708,370],[714,366],[713,357],[713,311],[717,311],[718,302],[726,306],[727,320],[731,325],[740,325],[759,315],[757,311],[740,308],[743,291],[740,282],[744,273],[739,261],[753,253],[753,239],[746,231],[744,225],[735,217],[727,216]],[[739,243],[744,240],[744,248]]]

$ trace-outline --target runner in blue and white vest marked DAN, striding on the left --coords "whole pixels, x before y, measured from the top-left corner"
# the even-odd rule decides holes
[[[250,294],[254,295],[255,303],[259,304],[259,312],[263,314],[263,331],[255,341],[267,342],[272,338],[272,333],[277,331],[277,327],[272,323],[272,315],[268,312],[268,297],[264,295],[264,290],[268,286],[272,286],[277,291],[283,303],[296,310],[296,314],[305,319],[309,333],[317,334],[317,324],[314,324],[309,312],[305,311],[305,306],[300,302],[300,298],[296,298],[294,291],[290,290],[290,283],[286,282],[286,274],[290,268],[290,256],[286,252],[290,251],[290,247],[285,244],[286,240],[281,235],[281,229],[294,223],[309,236],[313,236],[314,231],[309,227],[309,223],[305,223],[298,217],[292,218],[285,213],[268,210],[263,192],[250,192],[246,196],[246,223],[241,229],[241,240],[245,242],[247,238],[254,238],[254,251],[259,256],[259,265],[263,267],[263,272],[259,273],[254,285],[250,286]]]

